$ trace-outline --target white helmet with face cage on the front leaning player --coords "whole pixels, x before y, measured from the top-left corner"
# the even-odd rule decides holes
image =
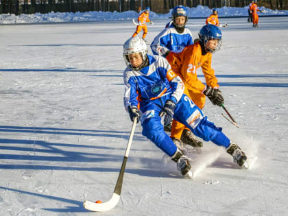
[[[140,53],[144,64],[147,58],[147,45],[143,39],[137,36],[134,38],[129,38],[123,45],[123,57],[128,67],[132,67],[130,65],[128,55],[133,53]],[[139,68],[141,68],[141,66],[137,67],[137,69]]]

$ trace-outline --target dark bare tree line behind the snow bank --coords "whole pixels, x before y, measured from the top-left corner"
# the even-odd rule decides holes
[[[127,10],[140,11],[150,7],[157,13],[167,13],[176,5],[189,8],[197,5],[209,8],[244,7],[250,0],[0,0],[0,13],[6,14],[33,14],[35,12],[87,12],[110,11],[124,12]],[[287,10],[288,0],[261,0],[260,6],[266,8]]]

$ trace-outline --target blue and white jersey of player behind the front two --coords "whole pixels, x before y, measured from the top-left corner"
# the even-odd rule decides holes
[[[150,47],[154,55],[163,56],[167,51],[177,51],[188,45],[193,45],[190,30],[185,27],[183,33],[178,33],[173,23],[167,23],[167,27],[154,38]]]

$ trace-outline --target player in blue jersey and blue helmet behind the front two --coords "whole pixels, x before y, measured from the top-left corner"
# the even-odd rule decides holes
[[[169,51],[176,51],[193,45],[192,34],[185,26],[187,21],[187,8],[182,5],[173,8],[172,21],[154,38],[150,45],[154,55],[167,56]]]

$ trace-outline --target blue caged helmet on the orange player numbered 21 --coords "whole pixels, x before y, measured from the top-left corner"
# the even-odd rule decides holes
[[[206,51],[208,51],[209,53],[215,53],[215,51],[221,48],[222,32],[216,25],[212,24],[204,25],[202,29],[200,29],[198,35],[200,41],[204,43]],[[206,47],[206,43],[208,42],[208,40],[214,40],[214,39],[218,40],[217,46],[213,49],[211,49],[210,47]]]

